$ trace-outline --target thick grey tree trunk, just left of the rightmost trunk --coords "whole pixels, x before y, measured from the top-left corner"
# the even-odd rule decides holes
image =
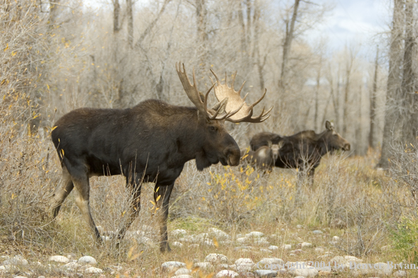
[[[381,168],[388,168],[388,158],[391,156],[391,143],[400,138],[400,110],[399,91],[401,83],[401,71],[403,64],[403,0],[395,0],[393,6],[393,21],[391,30],[391,47],[389,49],[389,74],[386,93],[386,111],[383,142],[381,145],[381,156],[376,165]]]

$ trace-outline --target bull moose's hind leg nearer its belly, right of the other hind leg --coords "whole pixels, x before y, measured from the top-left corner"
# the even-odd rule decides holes
[[[99,230],[97,230],[96,224],[94,224],[93,217],[91,217],[91,209],[90,209],[90,201],[89,201],[89,194],[90,194],[90,185],[89,185],[89,178],[86,175],[84,178],[76,179],[73,177],[74,185],[75,185],[75,203],[77,204],[78,208],[82,212],[82,216],[87,221],[87,224],[94,231],[96,235],[96,239],[101,239]]]

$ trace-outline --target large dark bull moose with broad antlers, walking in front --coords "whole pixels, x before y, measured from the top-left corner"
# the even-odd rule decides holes
[[[160,208],[160,251],[170,251],[167,237],[167,216],[170,194],[184,164],[196,160],[199,171],[212,164],[237,166],[240,150],[234,138],[224,128],[224,121],[260,123],[270,117],[263,109],[253,116],[253,107],[262,97],[247,105],[241,98],[241,88],[229,87],[227,80],[216,82],[203,95],[193,71],[192,85],[184,64],[176,63],[177,74],[186,95],[194,107],[170,105],[160,100],[145,100],[127,109],[81,108],[56,121],[51,133],[61,159],[63,178],[51,199],[55,218],[68,194],[75,187],[75,202],[98,241],[101,234],[91,217],[89,178],[91,176],[123,175],[132,189],[131,211],[118,232],[122,239],[137,217],[141,206],[141,184],[155,183],[154,199]],[[235,74],[236,75],[236,74]],[[219,101],[208,108],[212,88]]]

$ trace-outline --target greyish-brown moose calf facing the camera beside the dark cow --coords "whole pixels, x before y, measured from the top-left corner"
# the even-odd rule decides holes
[[[267,146],[261,146],[256,151],[253,150],[244,150],[241,152],[241,159],[243,161],[248,161],[249,164],[256,166],[261,170],[271,170],[276,163],[277,158],[279,157],[279,150],[283,141],[280,141],[278,144],[272,144],[272,141],[267,141]]]

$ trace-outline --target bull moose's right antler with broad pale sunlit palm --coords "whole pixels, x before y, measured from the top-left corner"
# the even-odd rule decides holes
[[[215,96],[217,98],[217,100],[223,100],[225,98],[228,98],[228,102],[227,102],[227,107],[225,108],[226,111],[234,111],[236,110],[237,107],[241,107],[238,112],[234,113],[233,115],[227,117],[225,120],[227,121],[232,121],[234,123],[239,123],[241,121],[246,121],[249,123],[260,123],[262,121],[265,121],[266,119],[268,119],[270,117],[270,111],[272,111],[273,107],[270,108],[270,110],[268,110],[267,112],[264,112],[265,107],[262,108],[262,112],[258,117],[252,117],[253,116],[253,107],[255,105],[258,104],[258,102],[260,102],[264,97],[265,94],[267,93],[267,89],[265,89],[264,94],[262,95],[262,97],[257,100],[256,102],[254,102],[252,105],[247,105],[245,100],[246,100],[246,96],[244,96],[243,98],[241,98],[241,90],[243,88],[243,85],[246,83],[245,81],[243,82],[241,88],[239,88],[239,91],[235,91],[234,89],[234,82],[235,82],[235,77],[236,77],[236,72],[234,74],[234,77],[232,78],[232,86],[229,87],[227,84],[227,73],[225,72],[225,84],[221,84],[219,78],[217,77],[217,75],[215,74],[215,72],[213,72],[212,69],[210,69],[210,72],[213,73],[213,75],[215,75],[215,79],[216,82],[214,83],[212,78],[210,79],[213,83],[213,86],[215,88]]]

